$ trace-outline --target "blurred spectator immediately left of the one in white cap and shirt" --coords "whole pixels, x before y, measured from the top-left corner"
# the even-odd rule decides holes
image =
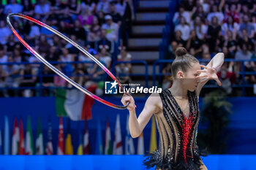
[[[94,44],[94,42],[97,42],[101,39],[101,36],[102,36],[102,28],[101,26],[99,26],[98,18],[94,17],[94,22],[91,28],[89,29],[87,41],[92,42],[92,44]]]

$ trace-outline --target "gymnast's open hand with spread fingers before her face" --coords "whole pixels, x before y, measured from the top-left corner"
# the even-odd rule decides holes
[[[211,67],[207,67],[207,66],[203,66],[200,65],[201,67],[203,67],[203,70],[197,70],[198,73],[200,73],[199,76],[197,76],[196,78],[201,78],[201,82],[203,82],[204,80],[215,80],[219,86],[222,85],[222,82],[219,81],[219,78],[217,76],[217,72],[216,69],[213,69]]]

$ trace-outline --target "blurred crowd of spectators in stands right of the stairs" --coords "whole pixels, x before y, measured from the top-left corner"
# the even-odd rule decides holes
[[[256,58],[255,0],[181,0],[173,25],[166,58],[174,59],[177,47],[186,47],[198,59],[211,60],[219,52],[225,53],[225,58],[237,60]],[[244,64],[245,72],[256,71],[255,62]],[[241,63],[225,62],[218,73],[228,93],[232,92],[230,85],[241,83],[238,72],[241,72]],[[167,78],[170,79],[165,80]],[[246,75],[245,80],[256,83],[255,75]]]

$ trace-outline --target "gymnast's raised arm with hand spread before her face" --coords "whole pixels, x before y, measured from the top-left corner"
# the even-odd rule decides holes
[[[197,86],[197,96],[199,96],[203,85],[206,85],[206,82],[208,82],[208,80],[216,80],[219,85],[222,85],[221,82],[219,82],[216,73],[218,69],[222,66],[223,62],[224,53],[217,53],[217,55],[215,55],[214,58],[211,59],[207,66],[202,66],[204,69],[200,72],[200,83]]]

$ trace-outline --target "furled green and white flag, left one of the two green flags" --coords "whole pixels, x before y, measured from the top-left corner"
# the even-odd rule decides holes
[[[28,117],[28,122],[26,125],[26,142],[25,143],[26,143],[25,145],[26,155],[33,155],[34,147],[33,147],[33,135],[32,135],[30,117]]]

